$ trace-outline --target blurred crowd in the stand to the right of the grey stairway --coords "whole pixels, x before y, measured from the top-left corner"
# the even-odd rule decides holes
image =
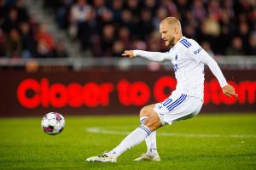
[[[255,55],[253,0],[44,0],[44,7],[94,56],[119,55],[125,48],[166,51],[156,32],[167,15],[182,20],[184,35],[213,54]]]

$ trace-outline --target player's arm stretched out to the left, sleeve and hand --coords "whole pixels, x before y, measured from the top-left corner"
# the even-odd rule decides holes
[[[149,51],[143,51],[143,50],[125,50],[122,56],[129,56],[130,59],[136,56],[140,56],[145,59],[149,59],[153,61],[163,61],[166,59],[170,59],[170,56],[168,53],[149,52]]]

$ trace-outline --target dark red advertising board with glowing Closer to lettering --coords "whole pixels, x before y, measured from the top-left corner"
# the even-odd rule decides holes
[[[224,71],[238,99],[222,94],[206,71],[203,112],[256,112],[256,71]],[[137,114],[175,89],[172,71],[88,70],[67,72],[2,71],[0,116]]]

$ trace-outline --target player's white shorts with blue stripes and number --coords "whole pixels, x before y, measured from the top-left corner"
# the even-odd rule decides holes
[[[154,106],[162,125],[189,119],[201,110],[202,99],[174,91],[171,96]]]

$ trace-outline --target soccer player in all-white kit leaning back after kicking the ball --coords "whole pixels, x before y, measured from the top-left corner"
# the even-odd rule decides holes
[[[154,61],[172,61],[177,79],[177,87],[163,102],[147,105],[140,111],[141,125],[131,132],[113,150],[100,156],[92,156],[86,161],[115,162],[117,157],[133,146],[146,141],[148,150],[134,161],[160,161],[156,149],[156,130],[174,122],[196,116],[203,105],[204,65],[208,65],[217,77],[223,93],[235,96],[235,88],[228,84],[218,64],[193,39],[183,37],[179,20],[167,17],[160,22],[161,38],[166,46],[172,47],[166,53],[142,50],[126,50],[123,56],[143,57]]]

